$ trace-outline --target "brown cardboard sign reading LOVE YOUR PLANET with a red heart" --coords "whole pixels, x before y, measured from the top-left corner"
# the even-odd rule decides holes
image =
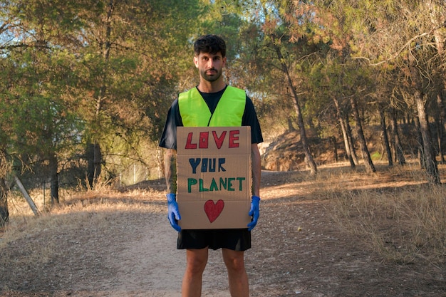
[[[247,228],[250,127],[177,127],[177,202],[182,229]]]

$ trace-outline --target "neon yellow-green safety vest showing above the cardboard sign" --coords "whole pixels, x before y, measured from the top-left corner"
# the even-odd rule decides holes
[[[246,104],[244,90],[230,85],[220,98],[214,114],[197,88],[192,88],[178,96],[178,106],[185,127],[231,127],[241,126]]]

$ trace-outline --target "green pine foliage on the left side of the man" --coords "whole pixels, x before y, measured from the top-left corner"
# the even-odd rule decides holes
[[[202,23],[185,24],[204,9],[199,1],[4,2],[2,145],[44,159],[93,140],[105,162],[140,159],[141,140],[157,140],[192,65],[190,38]]]

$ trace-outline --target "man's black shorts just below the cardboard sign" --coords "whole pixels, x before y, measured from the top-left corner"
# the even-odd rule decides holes
[[[177,249],[251,249],[251,232],[248,229],[199,229],[181,230],[178,233]]]

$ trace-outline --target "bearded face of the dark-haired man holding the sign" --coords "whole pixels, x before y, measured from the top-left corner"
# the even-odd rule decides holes
[[[199,75],[207,81],[215,81],[222,75],[222,69],[226,65],[226,57],[222,53],[199,53],[194,56],[195,67]]]

